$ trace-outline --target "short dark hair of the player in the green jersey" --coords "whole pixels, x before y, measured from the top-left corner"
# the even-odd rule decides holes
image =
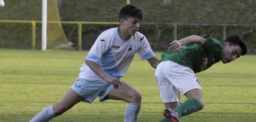
[[[247,44],[236,33],[233,33],[232,35],[228,36],[224,42],[228,42],[229,45],[238,45],[238,46],[240,46],[241,49],[242,49],[242,55],[245,55],[248,51]]]

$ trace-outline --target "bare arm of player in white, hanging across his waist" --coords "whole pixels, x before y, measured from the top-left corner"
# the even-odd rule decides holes
[[[100,66],[96,62],[85,60],[85,63],[92,69],[92,71],[94,71],[94,73],[96,73],[96,75],[98,75],[106,82],[113,84],[115,89],[119,87],[119,84],[122,86],[121,81],[117,77],[108,76],[104,71],[100,69]]]

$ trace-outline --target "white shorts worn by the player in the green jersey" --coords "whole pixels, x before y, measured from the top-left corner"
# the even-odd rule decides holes
[[[160,62],[155,78],[164,103],[178,102],[179,92],[184,95],[189,90],[202,90],[193,70],[172,61]]]

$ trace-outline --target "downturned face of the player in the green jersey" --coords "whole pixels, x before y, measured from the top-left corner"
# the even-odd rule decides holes
[[[223,44],[223,54],[221,61],[223,64],[229,63],[242,55],[242,49],[239,45],[229,45],[228,42]]]

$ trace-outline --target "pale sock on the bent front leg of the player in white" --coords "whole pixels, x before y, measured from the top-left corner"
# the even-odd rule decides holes
[[[137,122],[139,120],[139,112],[141,110],[141,103],[128,103],[125,110],[125,122]]]

